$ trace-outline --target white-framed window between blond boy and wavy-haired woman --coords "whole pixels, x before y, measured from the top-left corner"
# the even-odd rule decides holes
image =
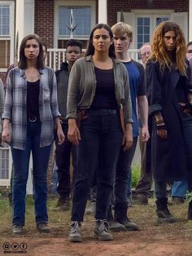
[[[137,48],[145,42],[150,42],[156,26],[168,18],[169,15],[137,15]]]

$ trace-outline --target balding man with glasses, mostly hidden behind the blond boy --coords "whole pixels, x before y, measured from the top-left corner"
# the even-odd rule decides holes
[[[144,43],[139,49],[139,55],[142,60],[142,65],[146,68],[146,61],[151,55],[150,42]],[[147,85],[146,85],[147,87]],[[139,117],[139,113],[138,113]],[[142,128],[141,118],[138,118],[138,126]],[[148,118],[149,131],[151,130],[151,119]],[[150,131],[151,134],[151,131]],[[146,142],[142,141],[142,133],[139,133],[139,147],[141,151],[141,176],[138,181],[134,194],[133,203],[139,205],[147,205],[148,198],[151,195],[152,173],[151,173],[151,138]]]

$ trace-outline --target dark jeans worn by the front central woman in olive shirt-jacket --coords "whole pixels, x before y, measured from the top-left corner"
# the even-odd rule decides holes
[[[116,161],[122,143],[120,116],[116,110],[89,111],[81,122],[77,148],[77,176],[72,198],[72,220],[83,221],[85,205],[97,164],[96,219],[107,219]]]

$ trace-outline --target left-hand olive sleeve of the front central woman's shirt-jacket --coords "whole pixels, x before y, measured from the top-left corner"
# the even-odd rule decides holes
[[[67,119],[77,118],[77,104],[80,93],[81,68],[78,61],[72,65],[68,78]]]

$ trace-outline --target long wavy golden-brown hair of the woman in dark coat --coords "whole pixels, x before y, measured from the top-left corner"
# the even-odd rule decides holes
[[[150,60],[156,60],[159,62],[161,72],[164,71],[164,68],[168,68],[170,70],[172,60],[168,56],[164,45],[164,34],[168,31],[174,31],[176,34],[176,50],[174,56],[176,60],[176,67],[181,75],[186,75],[185,37],[180,26],[173,21],[164,21],[157,26],[151,42],[152,54]]]

